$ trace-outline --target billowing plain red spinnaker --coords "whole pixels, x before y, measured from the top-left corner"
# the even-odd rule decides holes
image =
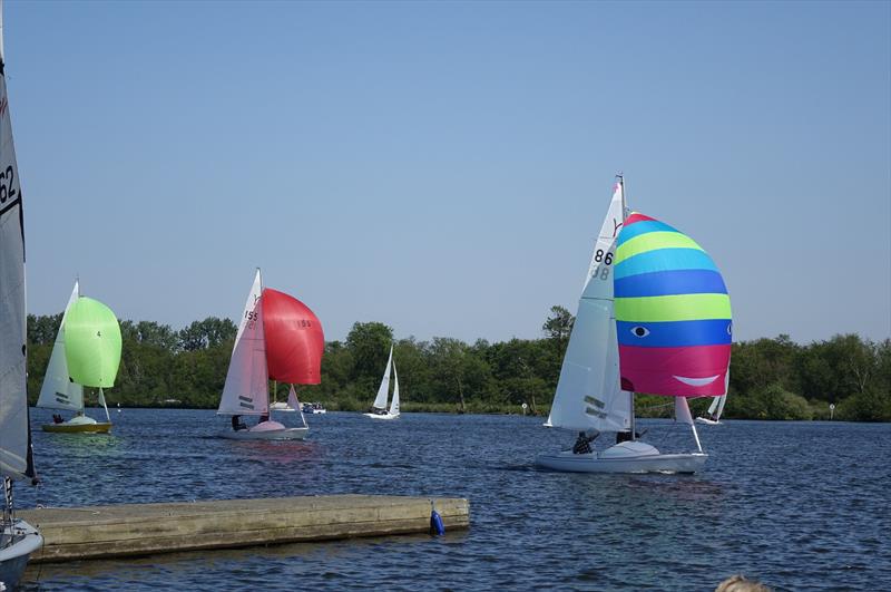
[[[270,378],[294,385],[320,384],[325,334],[319,318],[284,292],[266,288],[262,298]]]

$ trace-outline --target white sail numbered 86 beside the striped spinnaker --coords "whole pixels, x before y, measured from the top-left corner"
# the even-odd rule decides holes
[[[546,426],[578,431],[630,428],[631,394],[619,388],[613,313],[613,260],[623,221],[621,185],[616,184],[594,246]]]

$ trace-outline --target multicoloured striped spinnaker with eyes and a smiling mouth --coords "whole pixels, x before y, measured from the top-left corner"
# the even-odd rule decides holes
[[[712,258],[686,234],[639,213],[625,221],[617,243],[621,388],[675,397],[723,395],[731,300]]]

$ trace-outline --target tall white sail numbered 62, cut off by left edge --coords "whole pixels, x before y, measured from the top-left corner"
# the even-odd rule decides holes
[[[0,474],[13,478],[26,478],[29,445],[22,220],[0,47]]]

